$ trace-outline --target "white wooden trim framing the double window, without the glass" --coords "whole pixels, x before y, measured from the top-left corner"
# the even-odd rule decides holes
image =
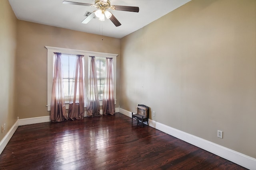
[[[86,99],[88,93],[88,58],[89,56],[95,57],[104,57],[104,58],[113,58],[114,66],[114,97],[116,104],[116,57],[118,54],[111,53],[101,53],[95,51],[84,51],[76,49],[66,49],[60,47],[50,47],[45,46],[47,49],[47,111],[51,110],[51,100],[52,100],[52,80],[53,80],[53,53],[63,53],[63,54],[72,54],[72,55],[84,55],[84,107],[86,107]],[[66,104],[66,109],[68,109],[69,104]],[[100,101],[100,106],[102,106],[102,101]]]

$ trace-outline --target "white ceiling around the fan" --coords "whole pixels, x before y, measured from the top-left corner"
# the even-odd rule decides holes
[[[19,20],[31,21],[108,37],[122,38],[169,12],[186,4],[190,0],[110,0],[111,5],[138,6],[140,12],[111,10],[122,24],[116,27],[110,20],[92,19],[81,23],[87,11],[95,7],[62,4],[63,0],[9,0]],[[94,0],[69,0],[94,4]]]

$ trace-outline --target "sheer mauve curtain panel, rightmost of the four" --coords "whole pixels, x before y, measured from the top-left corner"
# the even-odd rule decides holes
[[[113,80],[113,58],[106,58],[106,78],[103,89],[102,109],[104,115],[114,115],[114,80]]]

